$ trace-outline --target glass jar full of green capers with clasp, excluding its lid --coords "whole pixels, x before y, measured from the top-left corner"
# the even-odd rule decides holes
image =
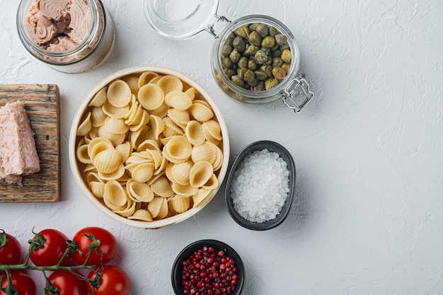
[[[245,16],[226,25],[212,50],[212,68],[224,92],[243,103],[282,98],[299,112],[313,96],[308,83],[297,78],[300,55],[294,35],[269,16]],[[293,98],[298,92],[301,103]]]

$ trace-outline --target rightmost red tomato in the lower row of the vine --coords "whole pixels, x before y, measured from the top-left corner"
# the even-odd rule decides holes
[[[96,270],[100,270],[100,268],[97,268]],[[88,274],[88,279],[96,279],[96,272],[90,272]],[[88,283],[87,287],[89,294],[91,295],[128,295],[131,291],[131,280],[126,272],[120,268],[114,265],[104,265],[100,279],[100,286],[96,289],[96,293],[94,293],[91,284]]]

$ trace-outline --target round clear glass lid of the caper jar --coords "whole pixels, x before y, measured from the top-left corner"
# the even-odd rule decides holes
[[[171,39],[186,39],[206,30],[217,14],[219,0],[145,0],[151,27]]]

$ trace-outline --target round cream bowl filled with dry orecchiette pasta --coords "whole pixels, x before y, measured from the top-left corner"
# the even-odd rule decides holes
[[[69,137],[76,183],[122,224],[159,229],[197,214],[217,194],[229,137],[217,104],[173,69],[134,66],[98,83]]]

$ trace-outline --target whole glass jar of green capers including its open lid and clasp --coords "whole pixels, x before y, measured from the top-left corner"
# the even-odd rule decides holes
[[[145,0],[144,6],[149,25],[160,35],[179,40],[202,31],[214,35],[212,71],[231,98],[256,104],[282,99],[295,112],[303,110],[313,93],[299,76],[299,48],[289,28],[264,15],[229,21],[219,16],[218,7],[219,0]]]

